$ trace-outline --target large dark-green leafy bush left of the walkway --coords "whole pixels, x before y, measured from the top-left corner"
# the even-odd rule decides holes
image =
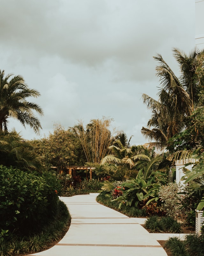
[[[60,191],[55,174],[0,166],[0,227],[31,232],[56,216]],[[29,227],[29,229],[28,229]],[[5,234],[4,234],[5,236]]]

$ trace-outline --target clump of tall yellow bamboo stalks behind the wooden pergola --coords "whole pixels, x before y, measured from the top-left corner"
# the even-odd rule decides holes
[[[108,153],[108,147],[113,142],[113,135],[110,131],[111,122],[112,119],[103,117],[92,119],[86,128],[82,122],[70,128],[78,136],[88,163],[99,164]]]

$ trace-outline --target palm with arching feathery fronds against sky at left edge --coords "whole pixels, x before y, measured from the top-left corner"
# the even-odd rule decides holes
[[[37,90],[30,89],[22,76],[4,74],[0,70],[0,132],[8,131],[8,119],[17,119],[24,127],[30,125],[36,133],[41,129],[39,119],[33,110],[43,115],[42,109],[35,103],[29,102],[28,97],[39,97]]]

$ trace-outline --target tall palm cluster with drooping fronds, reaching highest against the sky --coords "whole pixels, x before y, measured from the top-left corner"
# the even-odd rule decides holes
[[[181,76],[178,78],[171,68],[158,54],[154,57],[160,65],[156,67],[157,76],[160,78],[162,88],[154,100],[146,94],[142,95],[143,102],[151,109],[152,116],[147,128],[142,127],[142,134],[151,141],[150,146],[164,148],[167,141],[186,127],[186,116],[192,115],[198,105],[198,94],[201,89],[200,79],[196,68],[198,55],[204,51],[195,48],[189,55],[173,49],[173,55],[179,64]],[[202,55],[203,56],[203,55]]]

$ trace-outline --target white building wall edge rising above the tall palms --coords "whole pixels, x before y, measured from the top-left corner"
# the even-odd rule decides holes
[[[204,0],[195,0],[195,44],[204,49]]]

